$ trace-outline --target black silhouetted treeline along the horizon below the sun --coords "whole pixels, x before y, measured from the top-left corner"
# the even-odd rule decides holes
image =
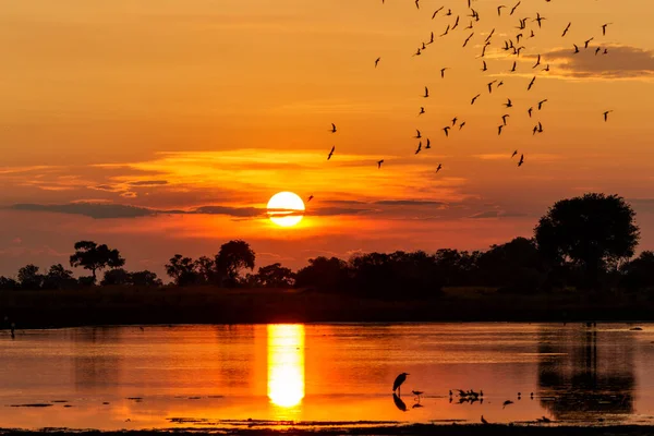
[[[541,218],[531,239],[516,238],[485,252],[438,250],[434,253],[358,254],[349,259],[316,257],[296,272],[280,264],[259,267],[245,241],[230,241],[197,259],[177,254],[166,264],[169,286],[219,288],[307,288],[383,299],[432,298],[444,287],[489,287],[534,293],[555,289],[654,289],[654,253],[633,258],[640,238],[635,214],[619,196],[586,194],[557,202]],[[69,289],[92,286],[161,287],[156,274],[126,271],[118,250],[77,242],[71,267],[89,276],[74,278],[53,265],[44,274],[35,265],[16,278],[0,277],[4,289]],[[97,280],[98,272],[102,279]]]

